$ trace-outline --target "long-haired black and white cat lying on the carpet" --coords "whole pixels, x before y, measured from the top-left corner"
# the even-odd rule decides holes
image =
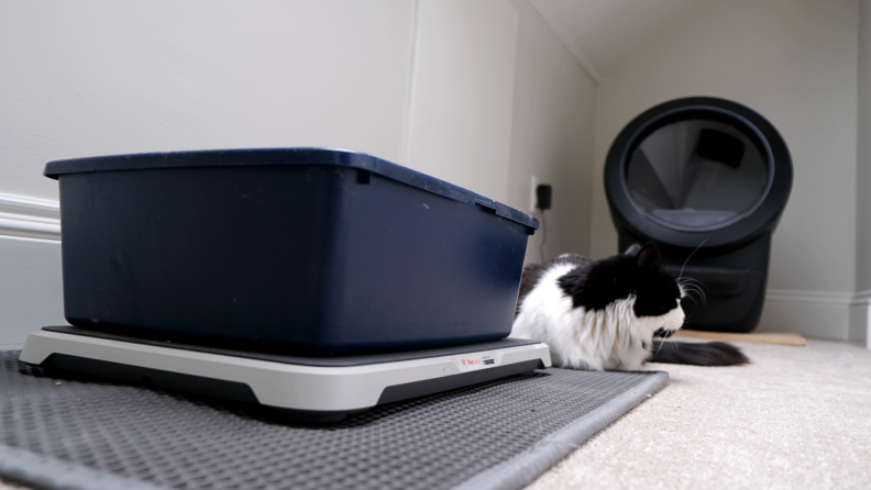
[[[550,346],[554,366],[626,369],[646,360],[703,366],[748,361],[736,347],[653,341],[683,325],[690,287],[666,274],[652,244],[602,260],[565,254],[523,268],[511,336]],[[680,345],[680,348],[677,348]]]

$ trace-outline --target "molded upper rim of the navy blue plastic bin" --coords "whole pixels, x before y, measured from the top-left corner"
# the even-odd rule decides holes
[[[378,157],[341,148],[207,149],[109,155],[49,162],[45,165],[43,175],[56,180],[62,175],[90,171],[287,165],[332,165],[368,170],[434,194],[489,208],[496,212],[497,216],[515,221],[532,230],[539,229],[538,219],[493,199]],[[532,234],[531,231],[530,234]]]

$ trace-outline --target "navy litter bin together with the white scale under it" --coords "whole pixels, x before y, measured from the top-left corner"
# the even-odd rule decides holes
[[[64,312],[21,359],[343,414],[550,366],[511,331],[533,218],[370,155],[52,162]]]

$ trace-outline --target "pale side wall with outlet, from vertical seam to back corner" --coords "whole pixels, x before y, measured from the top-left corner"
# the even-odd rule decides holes
[[[407,165],[539,219],[531,177],[551,183],[544,255],[586,254],[593,80],[527,0],[425,0],[417,22]]]

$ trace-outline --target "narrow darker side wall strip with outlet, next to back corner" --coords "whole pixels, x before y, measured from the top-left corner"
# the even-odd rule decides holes
[[[589,254],[596,86],[526,0],[520,12],[508,201],[530,209],[530,177],[553,186],[544,257]],[[529,241],[527,261],[540,261],[542,233]]]

